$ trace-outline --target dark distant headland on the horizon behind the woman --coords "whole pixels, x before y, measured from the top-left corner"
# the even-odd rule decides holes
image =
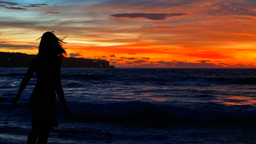
[[[28,55],[20,52],[0,52],[0,67],[28,67],[30,61],[36,55]],[[65,57],[61,63],[63,68],[115,68],[114,65],[109,65],[109,61],[100,59],[85,59]]]

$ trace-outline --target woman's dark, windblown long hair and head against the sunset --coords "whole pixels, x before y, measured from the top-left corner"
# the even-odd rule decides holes
[[[52,32],[47,31],[40,37],[41,41],[37,56],[46,59],[58,59],[58,61],[62,62],[61,59],[67,55],[67,52],[62,48],[62,43],[65,42],[63,42],[63,39],[56,37]]]

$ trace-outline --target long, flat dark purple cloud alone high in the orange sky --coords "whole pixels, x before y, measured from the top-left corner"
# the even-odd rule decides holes
[[[187,16],[186,13],[122,13],[122,14],[114,14],[110,15],[111,17],[115,18],[144,18],[150,19],[154,21],[164,21],[170,17],[177,17],[177,16]]]

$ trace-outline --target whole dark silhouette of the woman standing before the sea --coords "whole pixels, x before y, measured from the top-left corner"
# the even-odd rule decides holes
[[[64,58],[64,55],[67,55],[66,51],[62,48],[62,43],[64,42],[49,31],[40,38],[39,52],[36,58],[30,62],[27,74],[22,80],[18,94],[12,102],[14,107],[21,97],[22,91],[27,86],[34,72],[36,72],[36,85],[28,102],[31,112],[32,129],[28,135],[27,144],[35,144],[36,141],[37,144],[47,144],[52,126],[58,126],[58,121],[55,117],[55,91],[63,105],[64,116],[67,117],[70,114],[60,77],[61,59]]]

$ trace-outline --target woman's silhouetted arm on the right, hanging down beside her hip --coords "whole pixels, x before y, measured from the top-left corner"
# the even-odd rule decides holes
[[[64,91],[63,91],[63,88],[62,88],[62,85],[61,85],[60,72],[58,73],[56,80],[57,80],[57,82],[56,82],[56,85],[55,85],[55,90],[56,90],[58,98],[60,99],[60,102],[63,106],[64,116],[68,117],[70,115],[70,111],[67,107],[67,103],[66,103],[65,96],[64,96]]]

